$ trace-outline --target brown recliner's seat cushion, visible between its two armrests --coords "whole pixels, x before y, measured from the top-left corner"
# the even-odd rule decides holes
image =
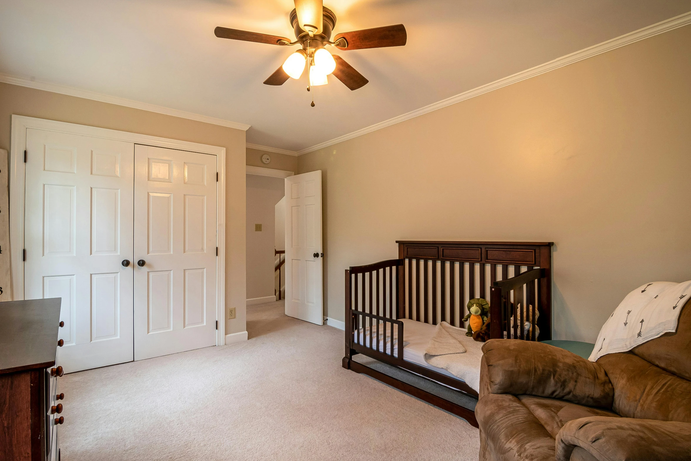
[[[528,408],[542,426],[545,426],[549,435],[556,438],[559,430],[571,420],[578,420],[579,417],[587,416],[612,416],[619,417],[616,413],[603,410],[601,408],[593,408],[591,406],[584,406],[572,404],[565,400],[548,399],[547,397],[536,397],[534,395],[519,395],[518,399]]]

